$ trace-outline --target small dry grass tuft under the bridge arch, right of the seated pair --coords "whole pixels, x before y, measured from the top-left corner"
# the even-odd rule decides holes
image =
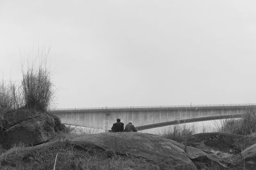
[[[184,125],[173,125],[170,129],[163,132],[163,138],[172,139],[177,142],[188,141],[195,134],[195,127]]]

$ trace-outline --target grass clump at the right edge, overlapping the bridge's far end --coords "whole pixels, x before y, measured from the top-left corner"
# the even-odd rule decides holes
[[[256,111],[248,109],[242,118],[223,120],[216,127],[218,131],[230,134],[253,134],[256,132]]]

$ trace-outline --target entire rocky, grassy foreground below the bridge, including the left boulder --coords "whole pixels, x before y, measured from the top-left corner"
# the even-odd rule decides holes
[[[204,133],[177,143],[140,132],[63,134],[65,127],[50,113],[5,111],[0,169],[53,169],[55,160],[56,169],[256,169],[252,136]]]

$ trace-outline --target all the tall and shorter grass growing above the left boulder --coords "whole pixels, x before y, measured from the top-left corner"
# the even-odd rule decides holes
[[[53,90],[50,73],[44,64],[31,66],[22,71],[22,81],[0,84],[1,108],[29,108],[46,111],[52,100]]]

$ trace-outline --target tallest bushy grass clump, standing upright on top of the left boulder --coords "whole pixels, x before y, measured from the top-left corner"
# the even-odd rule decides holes
[[[24,107],[46,111],[53,95],[49,71],[39,66],[38,69],[31,67],[22,74],[21,87]]]

